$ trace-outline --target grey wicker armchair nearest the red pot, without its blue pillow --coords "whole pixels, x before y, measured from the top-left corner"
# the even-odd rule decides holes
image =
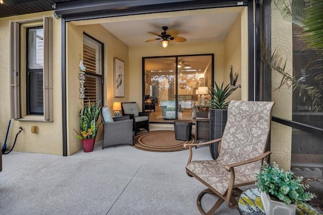
[[[100,115],[103,124],[102,149],[122,144],[134,144],[133,120],[130,116],[114,117],[113,122],[104,122],[102,113]]]

